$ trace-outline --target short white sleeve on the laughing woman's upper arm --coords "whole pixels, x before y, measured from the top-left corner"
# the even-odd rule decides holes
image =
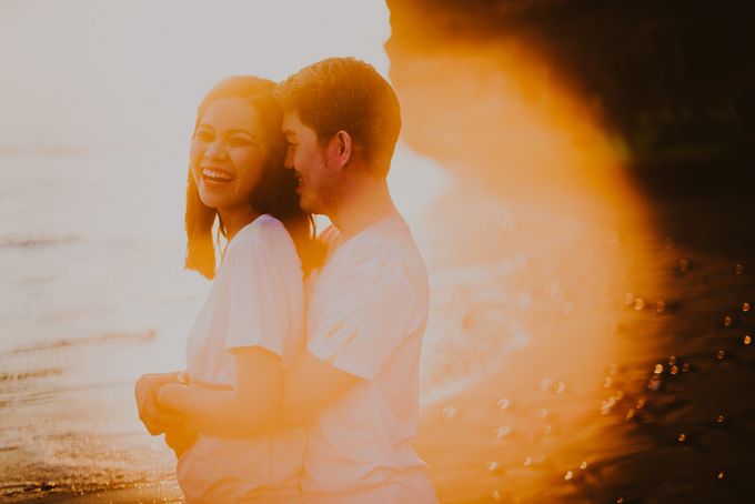
[[[286,275],[298,274],[301,285],[301,266],[286,261],[290,251],[276,250],[281,248],[278,236],[239,238],[242,240],[229,245],[215,279],[220,281],[218,294],[226,306],[225,320],[218,321],[225,325],[225,350],[262,346],[283,357],[291,317],[296,316],[291,308],[292,293],[286,292],[296,279]]]

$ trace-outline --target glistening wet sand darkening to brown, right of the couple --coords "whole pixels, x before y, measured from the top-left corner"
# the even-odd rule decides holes
[[[604,400],[584,414],[591,391],[567,383],[558,393],[512,362],[427,411],[417,447],[442,502],[753,502],[755,316],[744,303],[755,304],[755,250],[737,240],[752,226],[752,200],[734,192],[667,201],[656,208],[663,229],[647,236],[647,262],[623,272],[627,286],[652,275],[657,290],[624,294],[614,335],[626,351],[594,363],[605,372],[595,384]],[[727,210],[716,219],[715,208]],[[555,356],[550,376],[558,376],[557,353],[527,351]],[[528,393],[507,393],[512,374],[530,382]]]

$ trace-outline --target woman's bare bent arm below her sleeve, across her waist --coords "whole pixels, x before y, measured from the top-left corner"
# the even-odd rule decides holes
[[[282,392],[281,357],[261,346],[233,351],[232,390],[209,390],[168,383],[160,386],[160,406],[187,417],[202,434],[248,437],[278,425]]]

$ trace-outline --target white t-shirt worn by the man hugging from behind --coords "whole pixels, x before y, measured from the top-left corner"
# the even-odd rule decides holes
[[[400,216],[342,242],[313,276],[308,350],[362,377],[308,429],[305,502],[436,502],[410,441],[419,416],[419,366],[427,322],[424,262]]]

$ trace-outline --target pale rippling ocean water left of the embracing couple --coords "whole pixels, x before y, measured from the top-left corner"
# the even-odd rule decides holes
[[[177,152],[0,157],[0,496],[170,478],[133,383],[181,369],[207,283],[181,269]]]

